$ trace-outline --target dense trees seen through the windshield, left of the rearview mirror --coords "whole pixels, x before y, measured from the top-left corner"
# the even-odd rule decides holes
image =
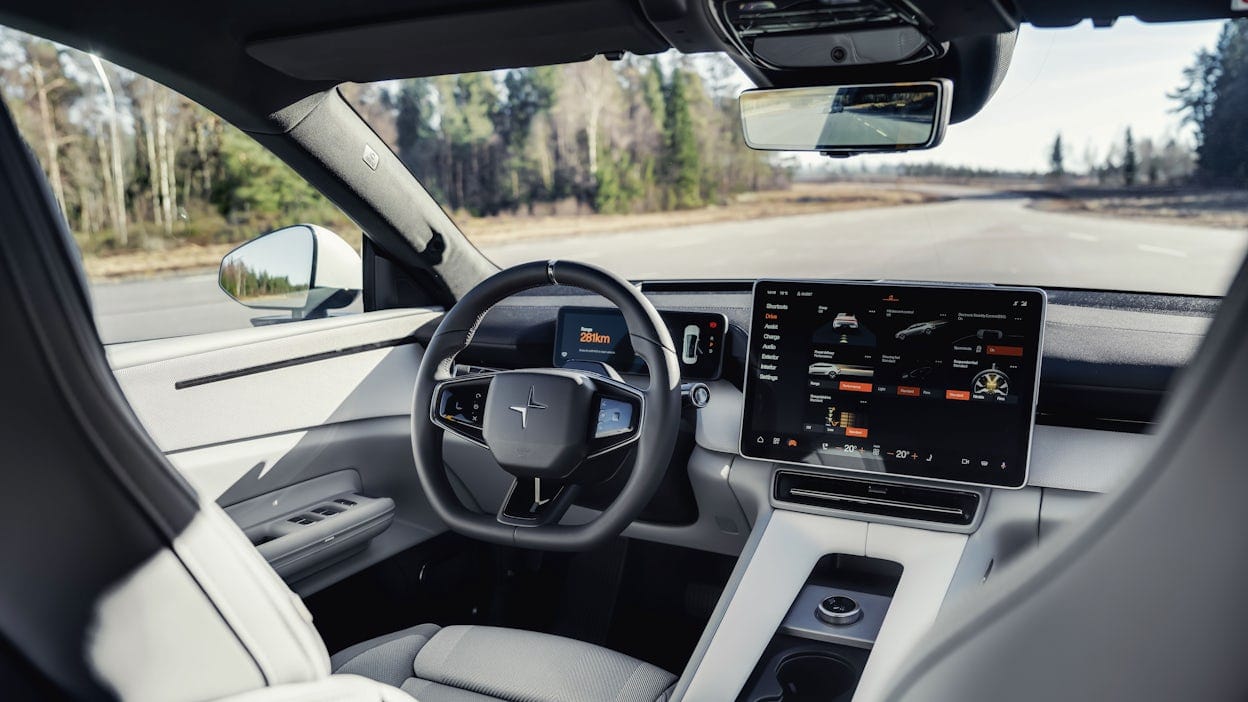
[[[665,65],[666,64],[666,65]],[[473,215],[723,204],[786,174],[745,145],[723,56],[628,56],[344,86],[433,196]]]

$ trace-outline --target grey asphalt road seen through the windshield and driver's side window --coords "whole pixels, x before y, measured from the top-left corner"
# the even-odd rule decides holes
[[[573,259],[629,279],[850,277],[983,281],[1222,295],[1248,232],[1041,212],[1022,197],[960,199],[540,239],[484,247],[502,266]],[[106,344],[240,329],[265,312],[228,300],[212,275],[92,290]]]

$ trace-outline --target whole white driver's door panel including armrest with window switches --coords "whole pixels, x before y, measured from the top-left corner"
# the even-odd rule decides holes
[[[413,335],[437,317],[371,312],[109,353],[170,462],[310,595],[446,531],[411,445]]]

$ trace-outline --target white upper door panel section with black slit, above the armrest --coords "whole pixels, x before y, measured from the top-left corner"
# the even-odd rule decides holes
[[[433,310],[369,312],[109,349],[162,451],[411,412]],[[282,334],[285,332],[285,334]]]

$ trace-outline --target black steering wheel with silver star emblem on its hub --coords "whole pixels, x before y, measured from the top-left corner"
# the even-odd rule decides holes
[[[456,356],[472,342],[485,312],[545,285],[579,287],[615,305],[650,385],[639,390],[608,372],[573,368],[456,376]],[[680,363],[654,305],[598,266],[534,261],[482,281],[442,319],[416,378],[412,452],[424,493],[452,531],[507,546],[582,551],[618,536],[650,501],[679,422]],[[457,497],[442,460],[446,432],[487,448],[513,477],[497,513],[469,510]],[[588,523],[560,525],[579,488],[604,478],[604,461],[623,461],[634,448],[633,471],[619,496]]]

